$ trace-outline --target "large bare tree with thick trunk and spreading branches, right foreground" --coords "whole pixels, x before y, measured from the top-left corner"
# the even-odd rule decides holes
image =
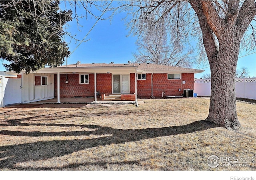
[[[240,46],[254,48],[254,1],[132,1],[112,10],[127,10],[131,33],[149,36],[157,28],[176,44],[198,36],[200,61],[208,59],[211,100],[207,121],[227,129],[241,126],[236,112],[235,75]]]

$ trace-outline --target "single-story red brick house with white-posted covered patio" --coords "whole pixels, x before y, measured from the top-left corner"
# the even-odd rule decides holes
[[[194,73],[203,70],[157,64],[70,64],[22,74],[22,102],[57,98],[136,100],[137,97],[180,96],[194,89]]]

